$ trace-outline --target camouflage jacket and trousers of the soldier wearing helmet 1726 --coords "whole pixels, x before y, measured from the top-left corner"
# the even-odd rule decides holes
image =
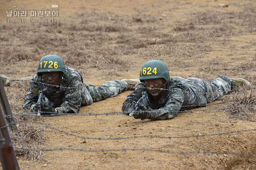
[[[59,86],[62,87],[54,88],[41,84],[44,83],[44,80],[36,74],[32,78],[35,82],[31,83],[29,91],[25,96],[23,107],[34,108],[36,106],[38,96],[33,93],[32,90],[34,88],[37,90],[42,89],[46,97],[47,105],[56,108],[60,113],[77,113],[81,105],[90,105],[92,102],[114,97],[118,93],[127,90],[127,83],[123,80],[109,81],[104,83],[103,86],[88,86],[83,83],[83,77],[79,71],[70,67],[66,67],[66,71],[67,75],[63,75],[63,78],[60,80]]]

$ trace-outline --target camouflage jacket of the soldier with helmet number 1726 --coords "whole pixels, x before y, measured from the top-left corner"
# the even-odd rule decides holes
[[[46,103],[48,106],[54,107],[60,113],[77,113],[80,110],[81,104],[89,105],[92,104],[92,98],[90,93],[87,91],[83,83],[83,77],[79,71],[66,67],[67,75],[63,75],[60,85],[62,87],[50,88],[48,85],[44,85],[44,80],[34,75],[31,86],[28,93],[25,95],[24,108],[34,108],[38,100],[38,95],[34,94],[32,90],[42,89],[46,97]],[[39,82],[39,83],[37,83]],[[65,88],[68,87],[68,88]]]

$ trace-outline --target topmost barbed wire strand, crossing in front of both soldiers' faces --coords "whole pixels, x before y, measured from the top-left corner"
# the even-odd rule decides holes
[[[2,77],[0,77],[2,78]],[[3,77],[4,78],[4,77]],[[61,88],[67,88],[67,89],[76,89],[76,88],[82,88],[82,87],[88,87],[88,86],[92,86],[92,87],[129,87],[130,86],[118,86],[118,85],[82,85],[82,86],[79,86],[79,87],[64,87],[64,86],[60,86],[60,85],[49,85],[49,84],[46,84],[46,83],[43,83],[43,82],[37,82],[37,81],[31,81],[31,80],[10,80],[8,78],[4,78],[4,79],[7,79],[9,81],[27,81],[27,82],[30,82],[30,83],[39,83],[39,84],[42,84],[42,85],[47,85],[47,86],[55,86],[55,87],[61,87]],[[178,92],[177,90],[171,90],[171,89],[163,89],[163,88],[151,88],[151,87],[135,87],[133,86],[134,88],[140,88],[140,89],[156,89],[156,90],[167,90],[167,91],[173,91],[173,92]],[[250,88],[241,88],[241,89],[233,89],[233,90],[230,90],[229,92],[234,92],[234,91],[241,91],[241,90],[249,90],[249,89],[255,89],[256,87],[250,87]],[[179,91],[180,92],[180,91]],[[214,94],[214,93],[222,93],[222,92],[227,92],[227,91],[218,91],[218,92],[209,92],[209,93],[202,93],[202,92],[183,92],[183,93],[196,93],[196,94]]]

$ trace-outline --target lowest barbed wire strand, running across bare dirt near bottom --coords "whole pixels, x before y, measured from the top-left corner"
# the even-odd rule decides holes
[[[55,149],[31,149],[31,148],[24,148],[24,147],[17,147],[13,146],[17,149],[27,150],[27,151],[83,151],[83,152],[117,152],[117,151],[151,151],[151,152],[162,152],[162,153],[170,153],[170,154],[191,154],[191,153],[198,153],[198,154],[226,154],[226,155],[236,155],[236,156],[243,156],[249,158],[255,158],[255,156],[247,155],[247,154],[240,154],[234,152],[216,152],[216,151],[186,151],[186,152],[173,152],[173,151],[164,151],[164,150],[156,150],[156,149],[138,149],[138,148],[123,148],[123,149],[99,149],[99,150],[85,150],[85,149],[72,149],[72,148],[55,148]]]

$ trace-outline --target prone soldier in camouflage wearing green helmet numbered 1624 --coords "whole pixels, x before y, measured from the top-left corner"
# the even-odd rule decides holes
[[[172,119],[180,110],[206,106],[206,103],[227,94],[233,87],[251,87],[247,80],[226,76],[216,78],[212,82],[194,77],[170,78],[166,65],[159,60],[151,60],[143,64],[140,70],[140,81],[142,83],[127,95],[122,110],[125,114],[132,112],[132,102],[137,102],[142,97],[142,92],[146,91],[148,106],[142,105],[133,114],[135,119],[141,120]]]

